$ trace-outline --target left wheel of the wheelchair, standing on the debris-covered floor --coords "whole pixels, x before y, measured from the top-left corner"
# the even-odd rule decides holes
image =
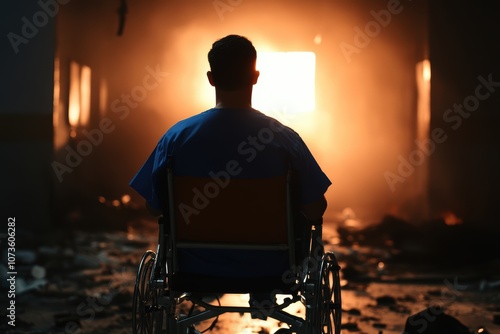
[[[137,270],[132,304],[132,324],[134,334],[166,333],[163,329],[165,311],[158,305],[159,289],[152,285],[155,252],[148,250],[142,256]]]

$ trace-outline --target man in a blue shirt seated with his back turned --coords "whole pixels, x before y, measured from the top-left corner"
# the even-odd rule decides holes
[[[313,221],[322,217],[330,180],[295,131],[252,108],[252,88],[259,78],[256,59],[245,37],[229,35],[213,43],[207,77],[215,87],[215,107],[172,126],[130,183],[153,211],[160,212],[166,202],[165,170],[173,156],[174,174],[179,176],[213,177],[234,161],[231,177],[267,178],[283,175],[291,165],[302,214]],[[227,253],[186,251],[182,256],[188,265],[183,270],[224,277],[281,276],[288,265],[282,253],[274,259],[269,252],[261,257],[249,251]],[[263,267],[270,260],[283,266]],[[218,261],[232,261],[236,270],[224,272]]]

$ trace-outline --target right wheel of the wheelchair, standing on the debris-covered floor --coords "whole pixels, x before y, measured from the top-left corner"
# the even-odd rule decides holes
[[[325,253],[321,261],[320,275],[316,284],[316,301],[313,312],[313,332],[339,334],[342,320],[340,298],[340,267],[335,255]]]

